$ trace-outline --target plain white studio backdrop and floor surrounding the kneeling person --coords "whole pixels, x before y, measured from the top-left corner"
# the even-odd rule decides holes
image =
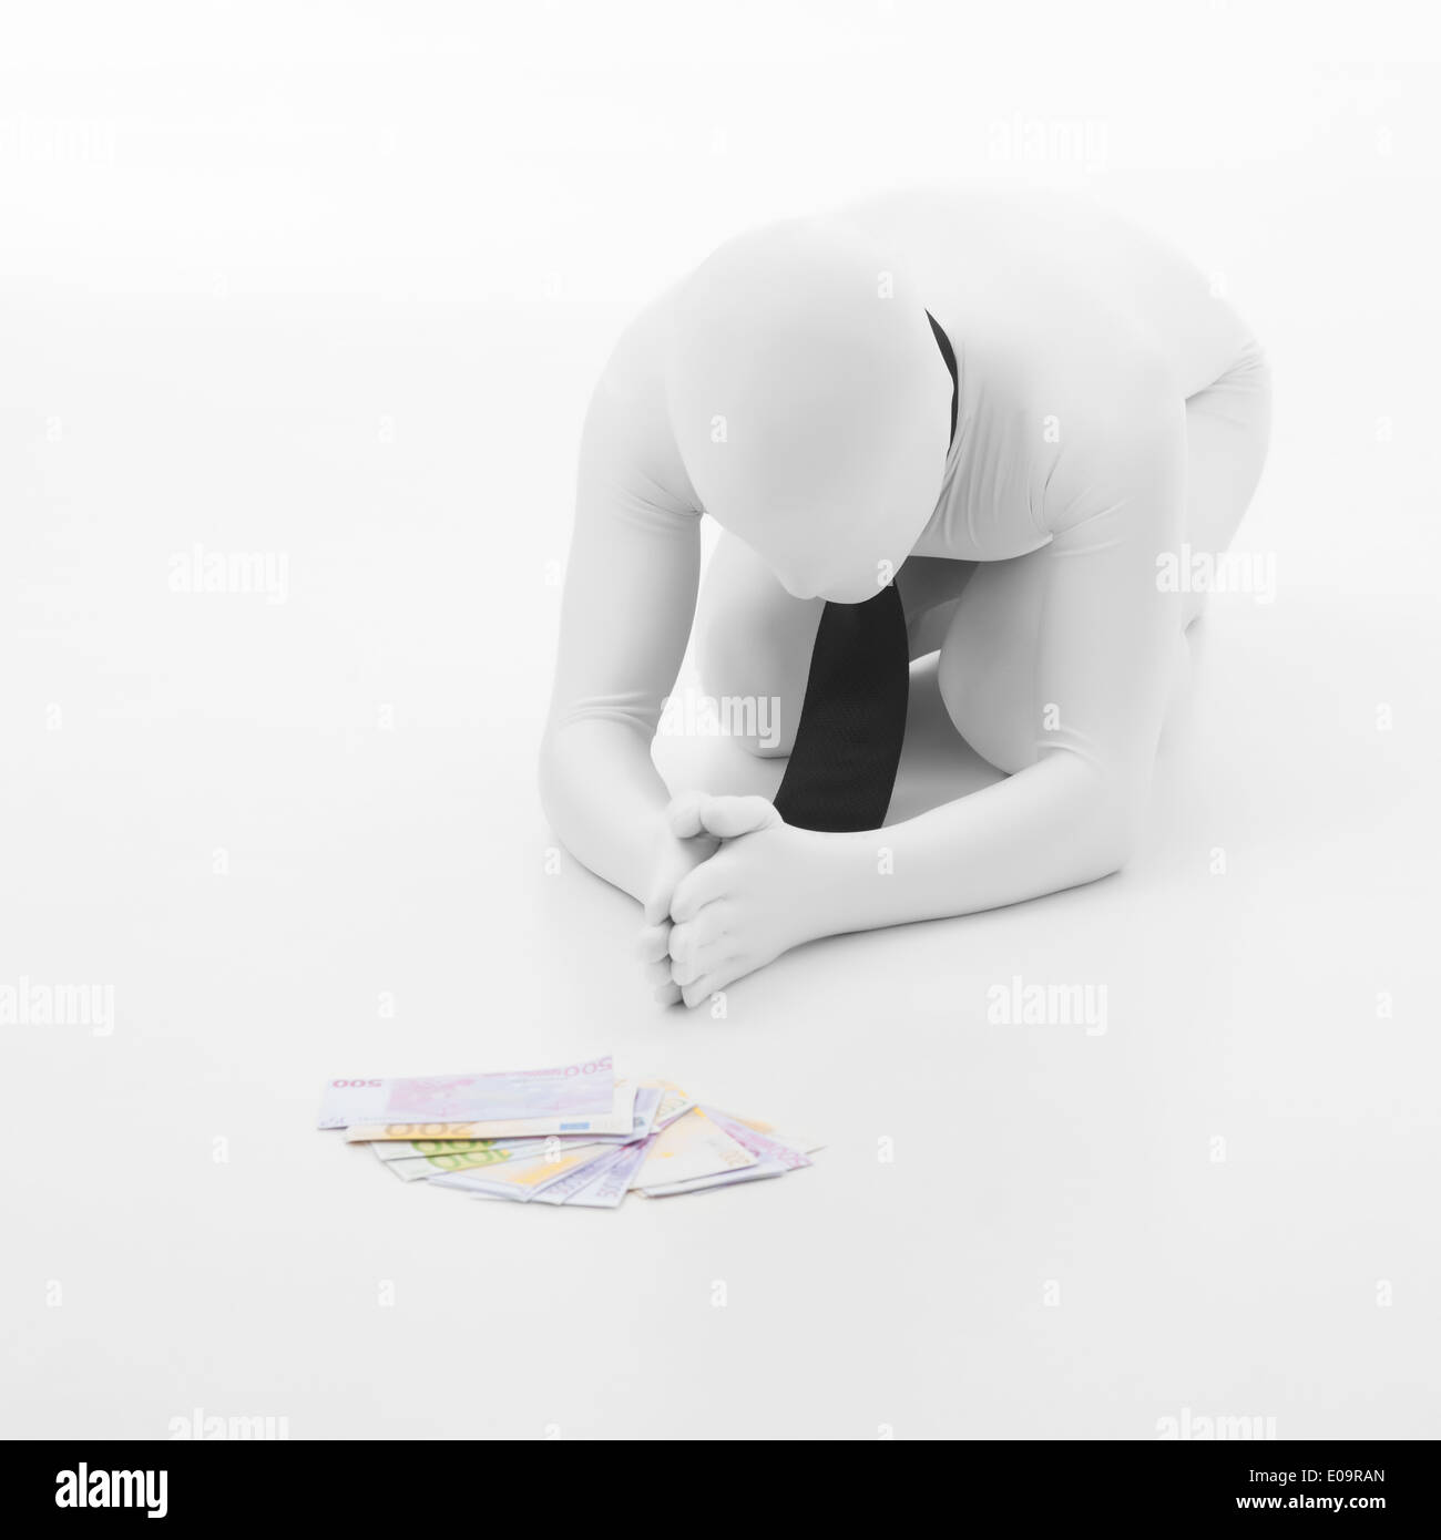
[[[1430,14],[11,8],[0,986],[117,1024],[0,1026],[3,1431],[1441,1434]],[[1213,602],[1122,876],[663,1013],[533,787],[584,400],[735,229],[974,179],[1093,189],[1250,319],[1276,599]],[[284,601],[171,591],[197,544]],[[900,810],[983,773],[915,690]],[[1013,975],[1105,1033],[988,1021]],[[606,1049],[829,1147],[607,1214],[310,1126]]]

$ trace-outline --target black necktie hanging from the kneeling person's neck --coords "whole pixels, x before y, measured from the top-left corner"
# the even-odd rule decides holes
[[[926,311],[951,371],[951,437],[959,380],[951,339]],[[775,810],[797,829],[880,829],[906,736],[911,650],[895,585],[863,604],[828,604],[811,651],[806,696]]]

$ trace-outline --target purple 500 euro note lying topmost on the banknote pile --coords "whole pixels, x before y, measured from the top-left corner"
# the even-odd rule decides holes
[[[321,1100],[317,1126],[345,1129],[390,1123],[535,1123],[584,1118],[607,1113],[613,1090],[615,1072],[609,1053],[553,1069],[498,1075],[333,1080]]]

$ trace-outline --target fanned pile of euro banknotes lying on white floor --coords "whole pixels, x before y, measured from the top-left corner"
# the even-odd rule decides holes
[[[555,1069],[333,1080],[322,1129],[368,1144],[401,1181],[475,1198],[620,1207],[809,1166],[817,1144],[701,1106],[663,1080],[616,1080],[610,1056]]]

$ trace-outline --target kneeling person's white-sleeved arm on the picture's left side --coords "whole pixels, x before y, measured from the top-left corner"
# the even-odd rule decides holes
[[[655,323],[630,326],[586,414],[541,748],[541,799],[561,844],[643,902],[658,867],[673,864],[678,881],[706,853],[669,835],[669,792],[650,762],[700,573],[700,513],[666,417]]]

